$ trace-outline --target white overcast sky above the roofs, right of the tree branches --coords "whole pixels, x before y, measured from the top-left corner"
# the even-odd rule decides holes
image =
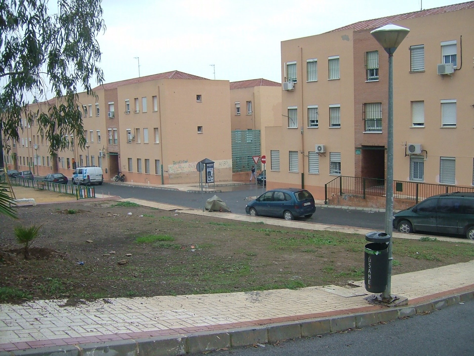
[[[280,42],[450,0],[103,0],[105,82],[179,70],[281,81]],[[440,29],[443,26],[440,26]]]

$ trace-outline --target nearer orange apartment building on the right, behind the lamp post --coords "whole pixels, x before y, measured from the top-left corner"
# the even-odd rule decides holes
[[[370,31],[389,23],[410,29],[393,57],[394,179],[472,187],[473,19],[470,1],[283,41],[268,188],[322,199],[338,176],[385,178],[388,56]]]

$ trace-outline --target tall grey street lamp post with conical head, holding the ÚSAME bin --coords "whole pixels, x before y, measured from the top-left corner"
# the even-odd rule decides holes
[[[392,234],[393,234],[393,53],[410,30],[401,26],[388,24],[371,31],[371,35],[388,53],[388,118],[387,118],[387,183],[385,187],[385,233],[390,236],[388,247],[388,281],[382,293],[382,300],[392,302]]]

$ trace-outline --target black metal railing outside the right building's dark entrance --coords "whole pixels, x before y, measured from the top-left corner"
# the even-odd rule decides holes
[[[413,200],[417,204],[421,200],[437,194],[454,192],[474,192],[474,187],[446,186],[420,182],[393,181],[393,197],[396,199]],[[385,179],[340,176],[324,185],[324,203],[335,195],[384,197]]]

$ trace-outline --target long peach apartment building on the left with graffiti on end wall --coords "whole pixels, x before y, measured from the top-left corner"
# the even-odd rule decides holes
[[[60,172],[71,177],[76,166],[92,165],[102,168],[105,181],[121,171],[134,182],[197,183],[196,164],[208,158],[215,162],[215,181],[232,179],[228,81],[173,71],[107,83],[93,91],[96,97],[78,94],[84,149],[71,136],[69,149],[52,159],[37,127],[28,127],[11,152],[17,159],[7,157],[9,169],[34,166],[37,175]],[[48,108],[48,103],[38,105]]]

